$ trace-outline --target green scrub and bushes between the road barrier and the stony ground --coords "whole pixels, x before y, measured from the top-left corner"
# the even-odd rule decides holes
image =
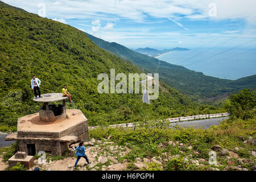
[[[234,98],[240,99],[234,100]],[[255,112],[255,95],[249,90],[242,90],[240,93],[230,96],[230,102],[233,104],[227,107],[232,110],[234,109],[233,105],[248,103],[250,106],[242,107],[242,110]],[[220,170],[242,170],[242,168],[255,170],[256,158],[251,154],[255,151],[255,114],[251,115],[251,118],[240,119],[243,117],[243,112],[240,112],[240,115],[235,110],[238,111],[241,108],[237,107],[233,110],[238,118],[230,117],[222,121],[219,126],[213,125],[209,129],[178,126],[175,129],[170,129],[167,127],[167,123],[164,126],[153,122],[151,125],[140,125],[134,129],[99,128],[90,131],[89,135],[90,138],[101,140],[111,135],[111,140],[116,144],[129,146],[131,151],[120,160],[127,159],[130,162],[128,167],[131,170],[135,169],[133,163],[136,162],[136,158],[150,159],[153,157],[168,160],[164,160],[163,168],[160,168],[161,164],[159,166],[151,163],[147,169],[180,171],[209,170],[214,167]],[[216,145],[222,149],[216,152],[217,166],[210,166],[208,163],[209,152]],[[223,151],[228,152],[224,153]],[[229,156],[229,152],[233,155]],[[199,160],[199,166],[196,165],[196,160]]]

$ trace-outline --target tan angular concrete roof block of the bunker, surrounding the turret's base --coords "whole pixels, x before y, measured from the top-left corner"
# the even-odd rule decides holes
[[[18,137],[61,138],[66,135],[77,136],[88,131],[88,120],[81,110],[68,109],[68,118],[55,122],[42,122],[39,113],[18,118]],[[74,134],[75,133],[75,134]]]

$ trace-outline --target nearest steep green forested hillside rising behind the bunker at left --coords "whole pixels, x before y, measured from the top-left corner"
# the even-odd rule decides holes
[[[36,75],[42,93],[61,92],[64,84],[90,126],[142,119],[216,112],[197,105],[160,82],[158,100],[142,103],[142,94],[100,94],[99,73],[141,73],[131,61],[96,46],[84,32],[67,24],[0,3],[0,130],[38,111],[30,80]],[[197,109],[196,109],[197,108]],[[186,110],[184,113],[183,110]],[[212,109],[210,111],[209,109]]]

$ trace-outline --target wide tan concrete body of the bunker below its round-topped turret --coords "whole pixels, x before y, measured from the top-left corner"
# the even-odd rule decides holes
[[[39,113],[18,118],[18,134],[11,134],[5,139],[18,140],[19,151],[27,154],[46,151],[52,155],[62,155],[69,144],[79,140],[89,141],[88,120],[81,110],[69,109],[67,115],[68,118],[57,119],[55,122],[41,121]],[[34,149],[28,150],[27,144],[32,144]]]

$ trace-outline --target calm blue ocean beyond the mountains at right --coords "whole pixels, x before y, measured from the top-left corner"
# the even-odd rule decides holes
[[[190,49],[190,51],[173,51],[158,57],[158,59],[182,65],[196,72],[203,72],[204,75],[230,80],[256,74],[255,48],[230,49],[230,51],[227,51],[229,48]],[[253,50],[250,51],[251,49]]]

